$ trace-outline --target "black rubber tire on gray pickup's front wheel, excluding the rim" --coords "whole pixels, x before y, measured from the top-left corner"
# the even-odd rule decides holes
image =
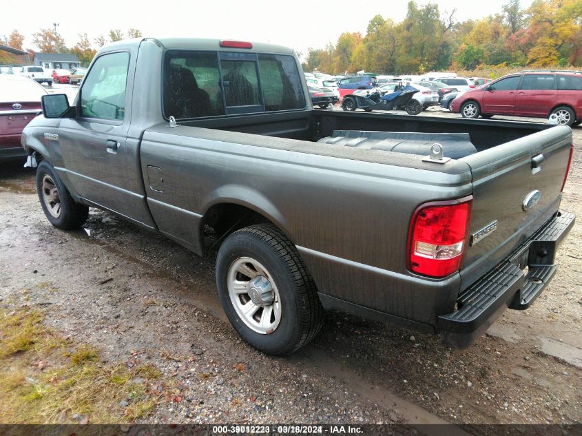
[[[61,200],[61,216],[59,216],[59,218],[54,218],[54,216],[49,213],[43,200],[41,191],[43,176],[45,174],[51,176],[56,184],[56,189],[59,191],[59,200]],[[52,167],[52,165],[50,165],[46,160],[43,160],[37,167],[35,183],[37,185],[37,194],[39,194],[39,200],[45,216],[54,227],[61,230],[79,229],[79,227],[81,227],[87,220],[87,217],[89,216],[89,207],[80,205],[73,200],[69,190],[65,187],[63,180],[61,180],[59,175],[56,174],[54,167]]]

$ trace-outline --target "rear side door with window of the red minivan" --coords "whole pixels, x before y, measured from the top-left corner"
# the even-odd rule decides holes
[[[517,91],[515,114],[548,116],[557,96],[554,74],[524,74]]]

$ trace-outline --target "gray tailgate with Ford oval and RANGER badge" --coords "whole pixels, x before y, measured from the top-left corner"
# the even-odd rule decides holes
[[[570,128],[557,126],[459,159],[470,166],[473,185],[461,291],[558,211],[571,146]]]

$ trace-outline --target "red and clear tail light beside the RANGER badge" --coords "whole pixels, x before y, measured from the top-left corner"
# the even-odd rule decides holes
[[[468,240],[472,196],[426,203],[417,209],[408,232],[408,269],[430,277],[458,271]]]

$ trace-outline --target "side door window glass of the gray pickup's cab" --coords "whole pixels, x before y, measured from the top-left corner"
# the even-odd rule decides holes
[[[104,54],[95,61],[81,88],[81,116],[123,120],[129,53]]]

